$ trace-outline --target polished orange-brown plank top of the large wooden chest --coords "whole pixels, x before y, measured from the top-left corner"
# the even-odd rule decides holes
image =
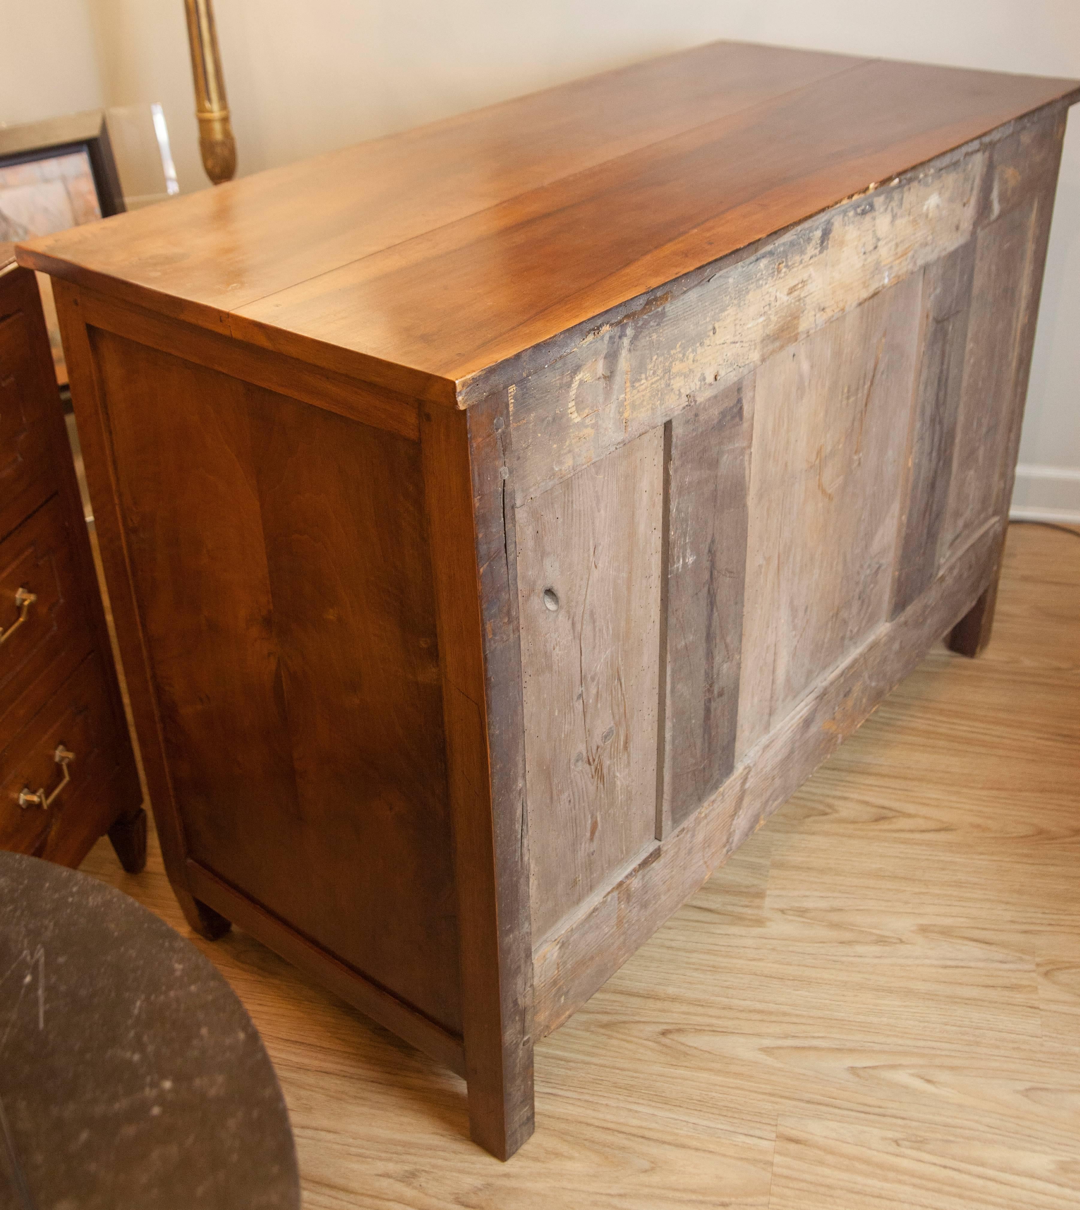
[[[19,255],[452,403],[522,350],[1076,94],[1075,81],[720,42]]]

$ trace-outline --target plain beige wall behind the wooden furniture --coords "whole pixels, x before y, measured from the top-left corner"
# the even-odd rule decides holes
[[[0,121],[94,104],[96,88],[108,104],[161,100],[181,189],[206,186],[180,0],[0,6],[42,50],[63,29],[70,64],[50,80],[22,63],[29,85],[0,85]],[[216,0],[216,16],[244,174],[715,38],[1080,76],[1080,0]],[[1078,333],[1080,113],[1067,136],[1015,501],[1080,519]]]

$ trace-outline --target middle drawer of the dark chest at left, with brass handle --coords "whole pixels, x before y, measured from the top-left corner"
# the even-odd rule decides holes
[[[35,600],[21,601],[21,593]],[[53,496],[0,542],[0,748],[91,650],[64,509]]]

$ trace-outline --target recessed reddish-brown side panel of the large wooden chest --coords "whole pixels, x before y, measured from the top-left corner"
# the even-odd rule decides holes
[[[89,338],[185,857],[460,1036],[420,445]]]

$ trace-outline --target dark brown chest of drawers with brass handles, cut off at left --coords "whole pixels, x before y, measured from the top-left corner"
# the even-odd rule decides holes
[[[0,244],[0,848],[77,865],[145,813],[34,275]]]

